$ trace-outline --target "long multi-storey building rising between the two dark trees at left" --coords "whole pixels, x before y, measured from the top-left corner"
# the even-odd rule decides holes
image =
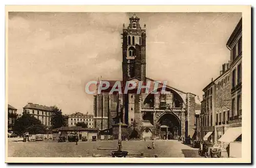
[[[42,106],[38,104],[28,103],[23,107],[24,114],[30,114],[41,121],[47,127],[51,127],[51,117],[53,113],[53,107]]]

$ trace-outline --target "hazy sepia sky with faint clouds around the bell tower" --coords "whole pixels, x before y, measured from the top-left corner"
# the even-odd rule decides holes
[[[93,114],[84,87],[122,80],[121,33],[133,13],[9,12],[8,104]],[[230,59],[241,13],[136,13],[146,24],[146,76],[199,95]]]

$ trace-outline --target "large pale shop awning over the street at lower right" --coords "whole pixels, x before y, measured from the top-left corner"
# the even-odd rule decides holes
[[[242,134],[242,127],[230,127],[218,141],[233,142]]]

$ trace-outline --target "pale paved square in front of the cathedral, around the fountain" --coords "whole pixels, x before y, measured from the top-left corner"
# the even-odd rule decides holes
[[[122,150],[128,151],[129,156],[144,153],[144,157],[201,157],[198,149],[184,145],[177,140],[154,140],[155,149],[147,149],[152,146],[152,140],[122,141]],[[106,149],[117,149],[117,140],[106,141],[79,141],[75,142],[22,142],[8,141],[9,157],[92,157],[98,155],[110,157],[111,151]],[[105,149],[105,150],[98,150]],[[129,157],[128,156],[128,157]]]

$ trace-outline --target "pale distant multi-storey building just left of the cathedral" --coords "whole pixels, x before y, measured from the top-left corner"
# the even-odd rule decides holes
[[[87,123],[88,128],[94,128],[93,115],[76,112],[68,115],[68,126],[76,126],[77,123]]]

